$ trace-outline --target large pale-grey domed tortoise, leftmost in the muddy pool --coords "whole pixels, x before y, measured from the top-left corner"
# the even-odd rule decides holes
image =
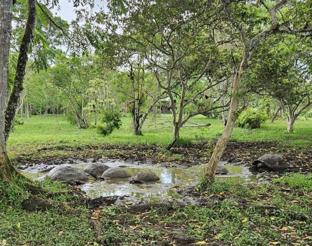
[[[71,164],[62,164],[59,167],[55,167],[49,171],[47,177],[50,177],[51,180],[57,180],[60,183],[67,183],[70,185],[85,184],[89,180],[87,174],[83,170]]]

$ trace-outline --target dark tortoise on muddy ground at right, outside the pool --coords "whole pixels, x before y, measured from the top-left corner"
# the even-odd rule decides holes
[[[253,162],[249,168],[252,171],[283,171],[292,168],[292,165],[278,154],[265,154]]]

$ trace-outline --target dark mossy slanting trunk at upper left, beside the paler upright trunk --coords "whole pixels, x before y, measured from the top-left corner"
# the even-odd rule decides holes
[[[25,76],[26,63],[28,60],[27,53],[29,46],[34,38],[36,20],[36,0],[28,0],[28,17],[25,26],[24,36],[20,43],[20,54],[16,66],[13,90],[5,111],[5,141],[9,137],[16,110],[18,108],[20,95],[24,89],[23,81]]]

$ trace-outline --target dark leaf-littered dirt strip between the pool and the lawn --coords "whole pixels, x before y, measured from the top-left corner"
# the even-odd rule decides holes
[[[211,143],[174,148],[172,152],[157,146],[86,146],[84,149],[43,148],[35,152],[20,154],[12,161],[16,165],[33,165],[38,163],[59,165],[74,160],[97,161],[98,159],[121,159],[151,164],[162,163],[163,166],[191,167],[208,162],[213,151]],[[276,153],[285,158],[294,167],[294,171],[312,172],[312,147],[310,149],[284,148],[276,143],[265,142],[230,142],[224,151],[223,160],[251,164],[263,154]]]

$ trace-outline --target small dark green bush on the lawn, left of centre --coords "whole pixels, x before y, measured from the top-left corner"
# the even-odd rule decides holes
[[[105,110],[101,119],[101,122],[104,123],[105,126],[98,125],[98,133],[103,136],[107,136],[111,134],[115,129],[119,129],[122,124],[120,117],[121,114],[119,111]]]

